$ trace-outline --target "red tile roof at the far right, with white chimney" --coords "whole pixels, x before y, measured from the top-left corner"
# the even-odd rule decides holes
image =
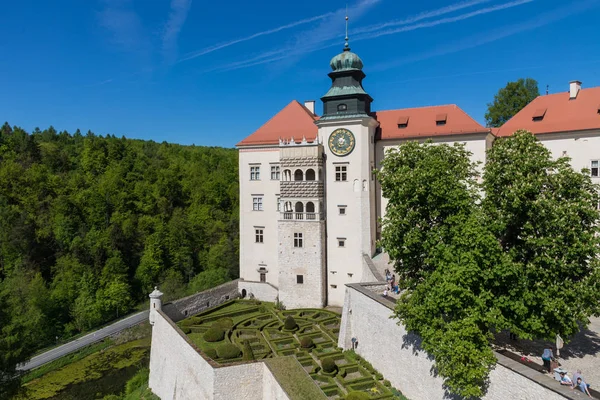
[[[573,100],[569,97],[569,92],[537,97],[502,125],[497,136],[510,136],[519,129],[536,135],[600,129],[600,87],[581,89]]]

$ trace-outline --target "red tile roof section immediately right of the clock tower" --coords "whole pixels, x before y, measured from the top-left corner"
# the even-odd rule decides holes
[[[377,111],[374,117],[382,140],[490,132],[454,104]],[[398,127],[401,117],[408,119],[404,128]]]

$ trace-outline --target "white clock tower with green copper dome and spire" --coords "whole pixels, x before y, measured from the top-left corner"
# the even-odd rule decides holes
[[[342,306],[345,285],[373,280],[365,258],[375,252],[375,129],[373,99],[364,90],[360,57],[348,37],[330,62],[331,88],[316,122],[325,151],[327,302]]]

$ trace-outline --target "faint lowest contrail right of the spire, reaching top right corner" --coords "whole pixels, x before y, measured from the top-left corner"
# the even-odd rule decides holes
[[[443,47],[434,49],[432,51],[419,54],[414,57],[407,57],[400,60],[396,60],[391,63],[379,64],[373,66],[373,71],[382,71],[391,68],[396,68],[408,63],[428,60],[435,57],[444,56],[447,54],[457,53],[459,51],[468,50],[474,47],[482,46],[487,43],[495,42],[497,40],[504,39],[509,36],[513,36],[519,34],[521,32],[530,31],[533,29],[540,28],[545,25],[549,25],[551,23],[563,20],[571,15],[579,14],[585,10],[588,10],[592,7],[598,6],[600,3],[599,0],[583,0],[578,2],[575,5],[568,5],[564,7],[559,7],[552,11],[548,11],[542,14],[538,14],[535,18],[532,18],[526,22],[514,24],[508,27],[502,27],[500,29],[495,29],[489,32],[487,35],[481,35],[478,33],[476,35],[467,37],[465,39],[460,40],[459,42],[455,42],[451,45],[444,45]]]

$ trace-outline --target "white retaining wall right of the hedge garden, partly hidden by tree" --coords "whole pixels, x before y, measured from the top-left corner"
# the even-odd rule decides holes
[[[375,284],[376,292],[370,286],[347,285],[338,346],[351,348],[355,337],[356,352],[409,399],[448,398],[442,378],[432,375],[433,359],[420,348],[420,338],[390,318],[394,303],[379,295],[381,284]],[[552,378],[501,354],[496,357],[485,400],[577,398]]]

